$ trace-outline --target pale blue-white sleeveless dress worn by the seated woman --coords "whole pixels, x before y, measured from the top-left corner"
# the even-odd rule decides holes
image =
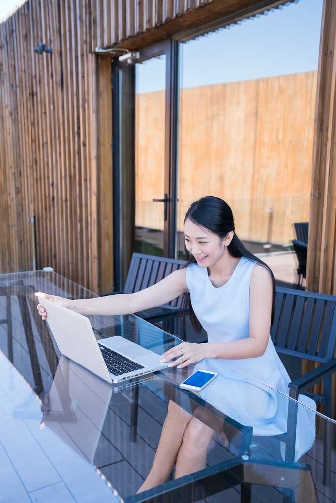
[[[209,343],[239,341],[249,337],[250,279],[255,264],[242,257],[229,281],[220,288],[211,283],[207,268],[201,268],[197,264],[188,266],[186,282],[191,305],[208,333]],[[255,436],[286,432],[288,399],[273,392],[271,388],[288,395],[288,383],[291,379],[271,337],[266,351],[260,357],[241,360],[208,358],[200,361],[194,372],[198,369],[219,374],[211,385],[200,392],[208,403],[240,424],[252,426]],[[315,402],[304,395],[300,395],[299,401],[316,409]],[[315,413],[299,407],[295,460],[312,447],[314,440]]]

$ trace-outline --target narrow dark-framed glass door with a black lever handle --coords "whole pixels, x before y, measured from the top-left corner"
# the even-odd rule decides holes
[[[115,290],[124,288],[133,252],[175,254],[175,53],[177,42],[167,40],[113,61]]]

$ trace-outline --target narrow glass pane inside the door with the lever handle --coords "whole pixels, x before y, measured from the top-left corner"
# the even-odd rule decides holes
[[[136,64],[136,252],[163,256],[166,57]]]

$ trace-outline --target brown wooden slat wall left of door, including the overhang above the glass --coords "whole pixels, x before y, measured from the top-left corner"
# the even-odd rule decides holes
[[[27,0],[0,24],[0,273],[31,269],[33,204],[37,267],[113,289],[110,59],[94,51],[148,45],[237,3]],[[52,55],[34,52],[41,42]]]

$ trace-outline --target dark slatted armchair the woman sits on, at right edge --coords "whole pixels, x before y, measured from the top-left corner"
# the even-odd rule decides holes
[[[300,394],[323,404],[323,413],[331,416],[331,375],[336,372],[336,297],[288,288],[277,288],[276,316],[271,338],[278,353],[305,358],[322,365],[289,383],[289,396],[298,400]],[[308,393],[314,384],[323,381],[323,396]],[[288,431],[277,436],[286,442],[286,461],[294,460],[297,403],[290,400]],[[323,484],[330,486],[330,430],[324,423]],[[288,499],[290,501],[290,499]]]

